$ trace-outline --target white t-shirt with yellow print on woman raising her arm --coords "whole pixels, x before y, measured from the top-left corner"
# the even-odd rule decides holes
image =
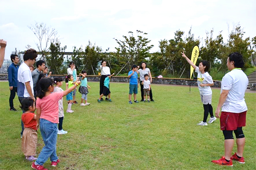
[[[195,71],[197,72],[197,85],[198,85],[200,94],[203,96],[211,95],[212,91],[211,91],[210,86],[204,86],[204,87],[200,86],[200,84],[212,84],[213,83],[213,80],[212,80],[210,74],[208,72],[205,72],[204,74],[202,74],[199,71],[199,67],[197,67],[195,69]]]

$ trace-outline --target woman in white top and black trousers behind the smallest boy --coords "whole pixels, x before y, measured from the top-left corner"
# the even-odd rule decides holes
[[[147,68],[147,65],[145,62],[142,62],[139,68],[140,69],[138,70],[138,72],[139,72],[139,80],[140,80],[140,86],[141,86],[141,101],[144,101],[144,90],[143,90],[143,84],[141,83],[143,80],[145,80],[144,78],[145,74],[148,74],[150,78],[150,83],[152,83],[152,76],[151,76],[150,69]],[[153,95],[152,95],[152,88],[150,88],[149,97],[150,97],[150,101],[154,101]]]

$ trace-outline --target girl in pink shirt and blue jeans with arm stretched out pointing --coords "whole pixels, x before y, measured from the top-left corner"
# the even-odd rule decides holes
[[[37,128],[40,125],[40,131],[45,143],[37,160],[33,162],[31,167],[35,170],[46,170],[43,164],[50,157],[52,166],[57,166],[59,158],[56,154],[57,132],[59,123],[59,99],[74,90],[80,81],[77,81],[73,87],[63,91],[52,93],[54,90],[54,82],[50,78],[42,78],[39,81],[37,108]]]

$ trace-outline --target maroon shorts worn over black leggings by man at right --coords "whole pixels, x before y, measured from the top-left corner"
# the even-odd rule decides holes
[[[247,111],[241,113],[221,112],[221,130],[236,130],[237,127],[244,127],[246,112]]]

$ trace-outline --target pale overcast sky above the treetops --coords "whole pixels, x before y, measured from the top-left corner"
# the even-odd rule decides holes
[[[214,37],[223,31],[224,42],[229,29],[240,23],[246,37],[256,36],[256,0],[0,0],[0,39],[7,41],[6,59],[15,47],[26,45],[36,49],[38,42],[28,28],[43,22],[58,31],[66,52],[73,46],[85,47],[90,40],[105,51],[115,51],[117,43],[128,31],[148,33],[159,50],[159,41],[173,39],[178,29],[201,39],[214,29]]]

